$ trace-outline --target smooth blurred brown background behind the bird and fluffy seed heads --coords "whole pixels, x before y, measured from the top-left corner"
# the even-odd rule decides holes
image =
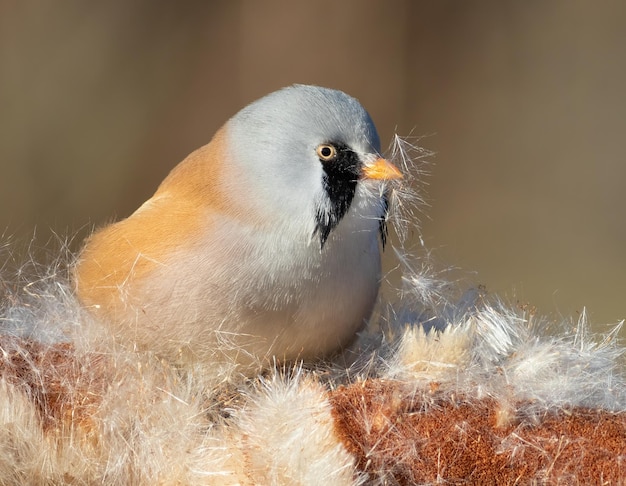
[[[385,146],[426,136],[421,235],[442,265],[615,322],[625,26],[621,1],[0,0],[0,234],[126,216],[244,104],[321,84],[359,98]]]

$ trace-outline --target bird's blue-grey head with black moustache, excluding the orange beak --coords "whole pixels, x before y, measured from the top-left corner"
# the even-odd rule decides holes
[[[358,100],[318,86],[271,93],[227,128],[231,159],[251,190],[241,197],[262,199],[273,217],[308,224],[303,231],[319,235],[322,246],[353,204],[364,162],[380,152]]]

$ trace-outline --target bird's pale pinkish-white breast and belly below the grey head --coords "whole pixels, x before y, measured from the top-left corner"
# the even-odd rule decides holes
[[[199,349],[228,340],[226,347],[260,358],[310,358],[345,345],[369,317],[380,276],[376,231],[337,234],[320,249],[310,235],[228,220],[214,228],[156,268],[142,290],[146,301],[167,302],[167,313],[160,306],[153,318],[171,339]],[[211,332],[219,336],[206,339]]]

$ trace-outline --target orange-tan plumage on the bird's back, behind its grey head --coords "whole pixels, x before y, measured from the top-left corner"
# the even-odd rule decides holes
[[[130,308],[140,309],[132,297],[134,284],[166,265],[172,252],[197,241],[210,224],[207,213],[222,210],[225,131],[178,164],[131,216],[87,240],[74,281],[80,301],[96,316],[118,322]]]

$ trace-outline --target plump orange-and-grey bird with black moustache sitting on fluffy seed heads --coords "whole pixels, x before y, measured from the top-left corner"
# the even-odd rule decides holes
[[[331,356],[373,311],[402,178],[358,100],[279,89],[86,239],[76,296],[116,342],[175,363]]]

